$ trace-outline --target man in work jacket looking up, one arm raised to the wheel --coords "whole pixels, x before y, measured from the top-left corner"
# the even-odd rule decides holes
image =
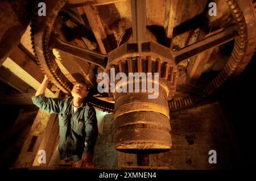
[[[98,137],[96,111],[86,103],[88,87],[79,82],[73,86],[73,99],[46,98],[47,76],[32,97],[33,103],[43,111],[59,114],[61,160],[80,162],[81,167],[93,167],[94,145]]]

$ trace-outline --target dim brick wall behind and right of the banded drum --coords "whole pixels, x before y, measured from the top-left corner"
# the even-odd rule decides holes
[[[229,169],[233,154],[218,103],[171,113],[172,149],[151,154],[149,166],[169,169]],[[210,164],[209,150],[217,151]],[[137,165],[136,154],[119,153],[118,167]]]

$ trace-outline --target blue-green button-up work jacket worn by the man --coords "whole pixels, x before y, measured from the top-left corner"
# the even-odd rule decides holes
[[[78,161],[84,154],[93,155],[98,126],[94,107],[84,101],[73,112],[72,100],[46,98],[44,94],[32,97],[33,103],[43,111],[59,114],[60,159],[72,157],[74,161]]]

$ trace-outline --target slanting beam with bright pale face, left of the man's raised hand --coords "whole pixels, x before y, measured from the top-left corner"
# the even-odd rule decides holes
[[[38,90],[43,81],[44,74],[42,70],[19,48],[14,49],[10,56],[6,58],[5,62],[3,62],[3,66],[10,69],[11,72],[35,90]],[[46,95],[54,96],[54,93],[47,88]]]

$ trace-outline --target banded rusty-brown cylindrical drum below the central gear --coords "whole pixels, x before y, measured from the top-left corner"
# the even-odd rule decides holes
[[[115,95],[115,149],[125,153],[160,153],[171,149],[168,89],[159,82],[159,96],[148,92]]]

